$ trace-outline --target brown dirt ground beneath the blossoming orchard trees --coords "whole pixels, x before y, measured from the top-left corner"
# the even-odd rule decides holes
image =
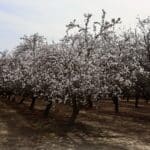
[[[61,105],[46,119],[27,103],[0,101],[0,150],[150,150],[150,104],[139,106],[124,101],[115,114],[112,102],[100,102],[69,127],[57,119],[64,115]]]

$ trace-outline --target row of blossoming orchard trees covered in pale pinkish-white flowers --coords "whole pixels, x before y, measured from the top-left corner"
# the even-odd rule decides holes
[[[0,57],[0,94],[17,95],[46,102],[47,116],[52,105],[72,106],[70,123],[84,107],[109,97],[118,111],[119,96],[150,97],[150,18],[138,19],[136,29],[119,31],[120,18],[99,21],[84,15],[66,27],[58,43],[48,44],[39,34],[24,36],[22,42]],[[119,32],[118,32],[119,31]]]

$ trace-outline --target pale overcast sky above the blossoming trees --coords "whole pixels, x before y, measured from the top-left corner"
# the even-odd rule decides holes
[[[24,34],[36,32],[57,41],[69,21],[82,21],[84,13],[98,16],[101,9],[129,27],[138,15],[150,15],[150,0],[0,0],[0,50],[12,49]]]

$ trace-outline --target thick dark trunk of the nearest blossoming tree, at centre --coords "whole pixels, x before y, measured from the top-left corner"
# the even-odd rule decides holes
[[[76,97],[73,96],[72,97],[72,114],[71,114],[71,117],[69,119],[69,124],[70,125],[74,125],[75,120],[76,120],[76,118],[77,118],[77,116],[79,114],[79,110],[80,109],[79,109],[79,107],[77,105]]]

